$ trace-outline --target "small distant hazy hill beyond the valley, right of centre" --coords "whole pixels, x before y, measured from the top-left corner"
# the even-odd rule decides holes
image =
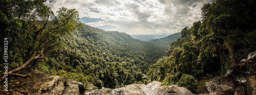
[[[166,49],[168,49],[170,42],[173,42],[173,41],[177,40],[179,37],[181,37],[180,32],[169,35],[169,36],[164,37],[164,38],[148,40],[147,42],[155,43],[157,45],[163,46]]]

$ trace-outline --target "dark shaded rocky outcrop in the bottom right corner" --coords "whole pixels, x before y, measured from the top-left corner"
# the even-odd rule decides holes
[[[225,77],[206,82],[207,94],[256,94],[256,57],[232,64]],[[236,89],[234,91],[234,89]]]

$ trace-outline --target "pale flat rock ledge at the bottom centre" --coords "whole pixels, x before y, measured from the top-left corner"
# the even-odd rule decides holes
[[[84,92],[85,95],[93,95],[93,94],[187,94],[193,95],[193,93],[183,87],[179,87],[178,85],[171,85],[171,86],[162,86],[161,82],[153,81],[148,83],[147,85],[144,84],[131,84],[125,87],[116,88],[116,89],[96,89],[96,90],[89,90]]]

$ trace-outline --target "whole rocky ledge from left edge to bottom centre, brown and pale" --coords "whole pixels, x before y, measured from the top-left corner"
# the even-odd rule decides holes
[[[59,76],[49,76],[37,70],[30,70],[31,76],[28,79],[17,78],[15,82],[10,82],[9,91],[0,91],[0,94],[187,94],[193,95],[191,91],[177,85],[162,86],[161,82],[153,81],[144,84],[131,84],[121,88],[96,89],[93,84],[89,88],[84,88],[81,82],[75,80],[64,80]]]

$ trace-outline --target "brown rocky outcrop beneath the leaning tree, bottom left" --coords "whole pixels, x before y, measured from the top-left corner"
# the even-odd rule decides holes
[[[66,81],[37,70],[31,70],[30,74],[28,79],[17,78],[15,82],[9,82],[9,91],[2,90],[0,94],[80,94],[86,90],[75,80]]]

